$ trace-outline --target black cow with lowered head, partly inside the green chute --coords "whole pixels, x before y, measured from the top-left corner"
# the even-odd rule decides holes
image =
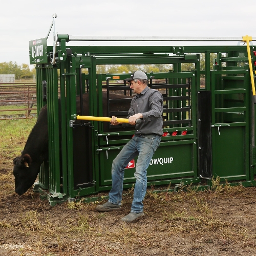
[[[103,92],[103,116],[108,116],[106,93]],[[131,96],[120,96],[110,94],[110,99],[131,98]],[[89,115],[89,95],[83,94],[83,115]],[[59,101],[60,102],[60,101]],[[80,99],[76,99],[77,110],[80,108]],[[111,106],[111,111],[127,111],[130,103],[122,102],[117,106]],[[112,109],[113,108],[113,109]],[[59,108],[60,109],[60,108]],[[80,114],[77,111],[77,114]],[[59,118],[60,119],[60,118]],[[107,124],[107,123],[106,123]],[[59,124],[60,131],[61,125]],[[108,126],[104,126],[107,132]],[[28,140],[25,144],[22,155],[13,159],[13,175],[15,177],[15,192],[23,195],[35,182],[43,161],[48,161],[48,126],[47,126],[47,105],[45,105],[37,118]]]

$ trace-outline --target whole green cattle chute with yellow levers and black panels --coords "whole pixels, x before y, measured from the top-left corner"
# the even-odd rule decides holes
[[[201,182],[209,187],[217,176],[222,182],[256,185],[255,93],[250,80],[255,66],[249,67],[247,52],[254,63],[256,49],[248,43],[237,45],[247,37],[91,38],[55,33],[54,38],[54,47],[46,46],[44,38],[30,42],[31,61],[37,64],[38,113],[48,106],[49,163],[42,164],[36,187],[46,191],[52,205],[110,190],[112,161],[134,135],[135,126],[110,123],[112,116],[129,122],[125,117],[132,91],[125,79],[131,74],[101,74],[101,65],[168,65],[162,72],[145,72],[148,86],[163,95],[165,135],[147,169],[148,186],[171,184],[176,189]],[[84,46],[90,40],[138,40],[140,46]],[[143,46],[143,41],[169,44]],[[183,46],[183,41],[236,45]],[[82,94],[84,113],[77,104]],[[136,158],[134,163],[131,166]],[[125,169],[124,188],[135,183],[134,172],[134,167]]]

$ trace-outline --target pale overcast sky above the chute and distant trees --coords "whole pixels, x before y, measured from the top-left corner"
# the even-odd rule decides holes
[[[255,11],[256,0],[2,1],[0,62],[16,61],[18,65],[29,64],[29,41],[46,37],[54,13],[57,14],[56,32],[59,34],[241,36],[242,39],[245,35],[253,38],[256,36]],[[48,45],[52,44],[52,37],[53,30],[50,32]],[[69,42],[68,46],[72,44],[74,43]],[[83,44],[102,45],[96,42]],[[145,45],[143,42],[141,44]],[[213,45],[212,42],[207,44]],[[230,44],[237,45],[237,42]],[[160,43],[154,42],[154,45]],[[168,42],[168,45],[185,44]],[[200,43],[197,42],[197,45]]]

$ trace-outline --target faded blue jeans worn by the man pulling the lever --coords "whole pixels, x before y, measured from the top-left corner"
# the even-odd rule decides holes
[[[138,156],[134,177],[136,183],[134,187],[134,197],[131,212],[143,211],[143,199],[146,194],[147,177],[146,170],[156,152],[161,141],[161,136],[135,135],[122,148],[112,164],[112,189],[109,193],[109,202],[121,204],[123,191],[124,168],[127,164]]]

